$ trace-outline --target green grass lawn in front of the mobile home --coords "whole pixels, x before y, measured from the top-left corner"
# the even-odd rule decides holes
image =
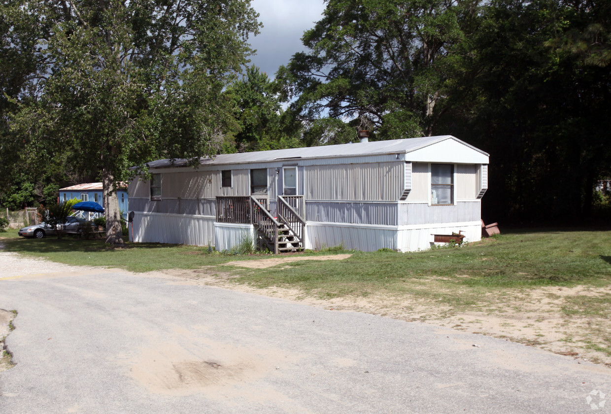
[[[127,243],[125,248],[112,248],[102,238],[37,240],[17,237],[16,231],[0,233],[0,238],[4,251],[64,264],[120,267],[133,272],[272,257],[211,254],[207,247],[159,243]],[[338,253],[346,251],[329,249],[306,254]],[[348,287],[349,293],[356,293],[356,286],[365,293],[368,287],[383,289],[397,281],[418,282],[431,276],[448,285],[485,288],[606,286],[611,281],[611,231],[513,232],[460,248],[348,253],[353,256],[343,261],[301,261],[246,272],[240,268],[240,272],[247,273],[243,281],[257,286],[291,285],[329,292],[337,289],[337,294],[348,293],[346,286],[352,286]]]

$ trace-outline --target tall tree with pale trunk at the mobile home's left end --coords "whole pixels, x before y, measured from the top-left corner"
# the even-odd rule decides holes
[[[257,13],[249,0],[7,0],[2,15],[29,41],[9,49],[37,62],[12,130],[26,150],[99,167],[106,242],[122,243],[117,182],[151,158],[216,152],[231,112],[222,90],[252,52]]]

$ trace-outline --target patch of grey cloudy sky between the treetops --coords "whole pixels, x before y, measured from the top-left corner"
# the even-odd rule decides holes
[[[274,78],[280,65],[304,50],[301,37],[320,20],[324,6],[323,0],[253,0],[252,7],[260,14],[263,28],[260,35],[249,39],[257,49],[251,65]]]

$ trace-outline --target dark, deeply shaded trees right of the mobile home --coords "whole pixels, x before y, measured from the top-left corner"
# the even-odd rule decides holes
[[[588,59],[602,56],[604,42],[590,51],[565,46],[608,23],[608,5],[494,0],[482,10],[442,124],[491,154],[489,220],[588,216],[596,179],[611,163],[611,71]]]

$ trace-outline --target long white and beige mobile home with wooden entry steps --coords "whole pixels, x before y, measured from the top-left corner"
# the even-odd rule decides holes
[[[453,136],[359,142],[148,164],[128,188],[133,241],[213,245],[245,234],[273,251],[430,248],[481,238],[488,153]],[[131,232],[130,232],[131,237]]]

